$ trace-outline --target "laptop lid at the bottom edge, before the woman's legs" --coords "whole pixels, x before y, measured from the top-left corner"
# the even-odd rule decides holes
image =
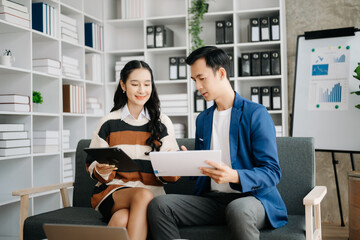
[[[48,240],[130,240],[126,228],[75,224],[44,224]]]

